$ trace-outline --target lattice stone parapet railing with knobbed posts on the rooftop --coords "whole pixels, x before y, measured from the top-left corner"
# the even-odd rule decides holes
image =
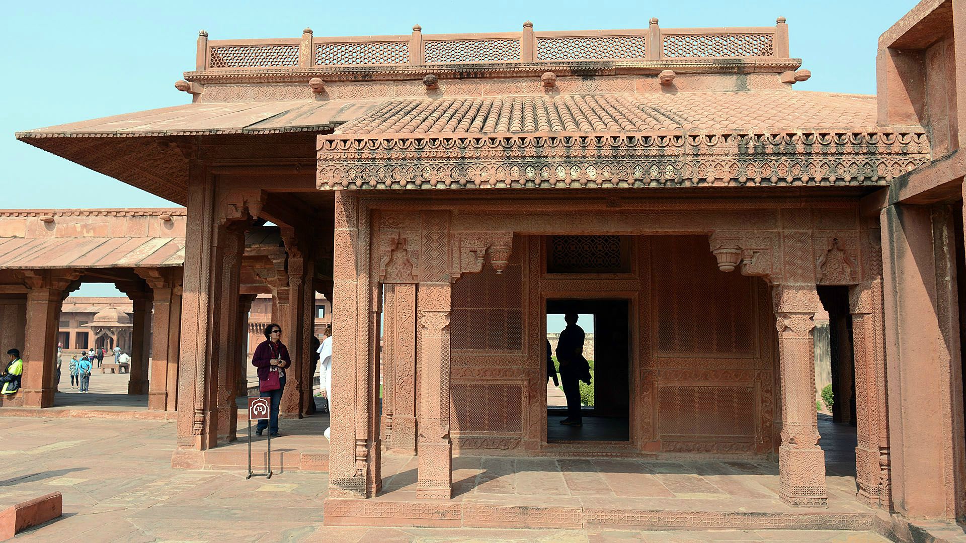
[[[306,28],[300,39],[210,41],[198,36],[197,71],[533,63],[559,61],[659,60],[665,58],[788,58],[788,25],[774,27],[672,28],[652,18],[646,29],[491,34],[422,34],[317,38]]]

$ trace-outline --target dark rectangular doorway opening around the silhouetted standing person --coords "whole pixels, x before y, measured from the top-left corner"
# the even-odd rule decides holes
[[[583,356],[591,373],[590,385],[581,384],[582,426],[561,424],[567,417],[565,405],[548,403],[549,443],[630,441],[629,309],[629,300],[547,300],[547,332],[554,358],[554,334],[564,329],[565,314],[576,313],[577,326],[585,331]]]

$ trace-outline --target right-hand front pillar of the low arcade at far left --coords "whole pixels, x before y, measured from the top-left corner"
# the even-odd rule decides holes
[[[154,308],[148,410],[175,411],[181,328],[181,270],[136,269],[135,272],[151,287]]]

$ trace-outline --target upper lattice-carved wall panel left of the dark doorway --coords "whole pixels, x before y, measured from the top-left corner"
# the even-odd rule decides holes
[[[450,347],[462,351],[520,351],[524,348],[523,269],[502,273],[487,266],[453,284]]]

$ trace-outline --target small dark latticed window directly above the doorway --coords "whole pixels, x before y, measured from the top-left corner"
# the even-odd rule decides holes
[[[631,238],[628,236],[551,236],[547,241],[547,272],[631,272]]]

